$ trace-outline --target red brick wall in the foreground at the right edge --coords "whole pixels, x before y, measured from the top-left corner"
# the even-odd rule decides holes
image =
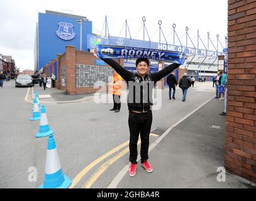
[[[225,168],[256,182],[256,0],[228,1]]]

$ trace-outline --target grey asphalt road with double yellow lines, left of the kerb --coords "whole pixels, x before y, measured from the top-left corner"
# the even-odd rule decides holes
[[[91,188],[108,187],[128,163],[128,153],[124,151],[128,144],[111,151],[129,140],[126,104],[121,104],[121,112],[114,113],[109,111],[111,103],[97,104],[90,95],[78,95],[77,99],[86,97],[78,102],[74,101],[75,96],[69,102],[61,102],[61,97],[67,96],[60,90],[43,90],[38,85],[33,90],[39,95],[52,94],[52,98],[40,99],[40,103],[45,105],[50,128],[55,132],[62,170],[75,179],[74,188],[86,187],[88,183]],[[30,121],[33,107],[25,100],[27,92],[28,88],[15,88],[14,81],[5,82],[0,89],[0,188],[36,188],[45,176],[47,138],[35,138],[40,121]],[[31,100],[31,92],[32,89],[28,100]],[[168,90],[162,91],[162,106],[153,111],[152,129],[169,128],[211,99],[214,88],[211,82],[196,83],[189,89],[186,102],[181,101],[181,89],[176,90],[176,100],[169,100],[167,94]],[[157,138],[159,136],[151,136],[150,143]],[[99,158],[109,151],[109,156]],[[30,167],[36,168],[36,182],[28,180]],[[87,171],[81,173],[82,170]]]

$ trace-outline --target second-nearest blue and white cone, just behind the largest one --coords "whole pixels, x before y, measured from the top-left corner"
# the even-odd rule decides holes
[[[47,137],[48,135],[53,134],[53,133],[54,132],[52,130],[50,130],[50,127],[48,125],[47,115],[45,112],[45,106],[42,106],[40,127],[39,127],[39,132],[36,133],[36,138]]]

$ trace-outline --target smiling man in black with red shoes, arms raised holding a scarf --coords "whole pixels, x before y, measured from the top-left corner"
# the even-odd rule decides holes
[[[94,53],[96,55],[96,48],[94,48]],[[175,68],[178,68],[180,65],[177,63],[172,63],[157,73],[148,73],[149,60],[147,58],[138,58],[136,59],[137,73],[132,73],[121,67],[119,63],[111,58],[101,59],[104,62],[108,63],[108,65],[110,65],[112,68],[114,68],[114,70],[116,70],[116,72],[128,84],[128,126],[130,129],[129,160],[131,162],[128,173],[130,177],[133,177],[136,174],[136,166],[138,163],[136,161],[138,156],[137,144],[139,135],[142,141],[140,148],[140,161],[146,171],[152,172],[153,168],[150,163],[148,163],[148,146],[150,129],[152,125],[153,87],[157,83],[157,81],[164,78],[166,75],[175,70]]]

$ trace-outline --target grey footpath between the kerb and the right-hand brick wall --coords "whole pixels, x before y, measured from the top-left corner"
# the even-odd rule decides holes
[[[226,118],[219,115],[222,109],[223,100],[211,99],[150,151],[152,173],[139,162],[135,177],[126,173],[115,178],[109,188],[256,188],[255,183],[228,172],[225,182],[217,180],[217,168],[223,167],[225,160]]]

